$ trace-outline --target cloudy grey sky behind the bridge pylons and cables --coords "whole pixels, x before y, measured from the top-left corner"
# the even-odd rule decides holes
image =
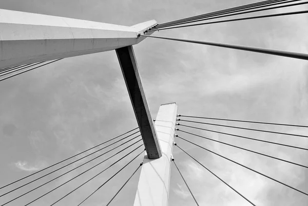
[[[0,0],[0,8],[130,26],[152,19],[163,23],[253,2],[256,1]],[[262,14],[304,9],[308,7],[279,9]],[[308,15],[301,14],[166,30],[153,35],[308,53],[307,25]],[[159,39],[146,39],[134,46],[134,50],[153,118],[156,117],[160,104],[177,102],[179,114],[183,115],[308,124],[306,61]],[[1,185],[137,126],[114,51],[64,59],[1,82],[0,96]],[[237,125],[308,134],[307,129]],[[204,126],[204,128],[308,147],[308,140],[300,137],[261,134],[215,126]],[[307,152],[304,151],[192,131],[308,165]],[[308,192],[307,169],[197,137],[181,133],[179,135]],[[308,204],[308,197],[283,185],[184,141],[177,140],[177,143],[256,205]],[[200,205],[249,205],[203,167],[182,154],[178,148],[174,149],[174,156]],[[129,158],[57,205],[78,204]],[[32,205],[52,203],[97,174],[114,159]],[[105,185],[97,194],[84,202],[84,205],[106,204],[141,160],[139,158],[134,161],[124,173]],[[65,171],[68,170],[66,168]],[[66,175],[16,200],[11,205],[29,202],[83,170],[85,168]],[[61,174],[60,172],[52,177]],[[139,173],[125,186],[112,205],[133,203],[138,176]],[[46,178],[44,182],[52,177]],[[0,203],[34,188],[38,183],[0,198]],[[171,206],[195,205],[174,166],[171,172],[169,200]]]

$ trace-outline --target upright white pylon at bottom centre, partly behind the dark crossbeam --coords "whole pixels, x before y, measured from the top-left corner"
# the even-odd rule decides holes
[[[162,157],[143,161],[134,206],[167,206],[169,199],[172,146],[178,106],[162,104],[155,127],[160,142]]]

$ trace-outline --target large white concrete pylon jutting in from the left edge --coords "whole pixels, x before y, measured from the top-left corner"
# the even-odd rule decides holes
[[[155,20],[129,27],[0,9],[0,68],[138,44],[144,40],[138,33],[155,25]]]

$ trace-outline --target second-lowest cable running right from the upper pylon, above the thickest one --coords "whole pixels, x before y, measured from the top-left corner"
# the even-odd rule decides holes
[[[159,31],[159,30],[166,30],[166,29],[176,29],[176,28],[184,28],[184,27],[191,27],[191,26],[200,26],[200,25],[217,24],[217,23],[225,23],[225,22],[236,22],[236,21],[243,21],[243,20],[253,20],[253,19],[258,19],[258,18],[286,16],[286,15],[295,15],[295,14],[304,14],[304,13],[308,13],[308,10],[286,12],[286,13],[277,13],[277,14],[268,14],[268,15],[261,15],[261,16],[251,16],[251,17],[244,17],[244,18],[234,18],[232,20],[205,22],[205,23],[199,23],[199,24],[190,24],[190,25],[183,25],[183,26],[176,26],[176,27],[167,27],[167,28],[162,28],[162,29],[151,29],[150,31]]]

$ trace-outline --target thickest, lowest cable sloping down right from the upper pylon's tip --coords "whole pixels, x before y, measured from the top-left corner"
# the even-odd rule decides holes
[[[274,49],[265,49],[265,48],[258,48],[258,47],[248,47],[248,46],[240,46],[240,45],[232,45],[232,44],[222,44],[222,43],[215,43],[215,42],[205,42],[205,41],[197,41],[197,40],[185,40],[185,39],[177,39],[177,38],[167,38],[164,36],[150,36],[150,35],[143,35],[149,38],[157,38],[157,39],[164,39],[164,40],[173,40],[178,42],[188,42],[194,44],[203,44],[209,46],[217,46],[217,47],[224,47],[229,49],[238,49],[243,51],[252,51],[257,53],[266,53],[271,55],[278,55],[281,57],[288,57],[294,59],[301,59],[301,60],[308,60],[308,54],[306,53],[298,53],[298,52],[291,52],[291,51],[282,51],[282,50],[274,50]]]

